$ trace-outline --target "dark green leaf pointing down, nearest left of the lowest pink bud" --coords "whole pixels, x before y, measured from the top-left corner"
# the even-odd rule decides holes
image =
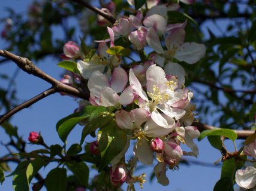
[[[74,173],[82,186],[88,186],[89,168],[84,162],[67,163],[67,167]]]

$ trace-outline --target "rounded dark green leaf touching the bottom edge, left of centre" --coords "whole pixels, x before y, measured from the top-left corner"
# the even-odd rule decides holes
[[[67,171],[65,168],[55,168],[47,174],[47,191],[66,191],[67,190]]]

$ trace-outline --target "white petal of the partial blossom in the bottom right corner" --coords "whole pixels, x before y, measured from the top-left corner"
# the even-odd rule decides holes
[[[256,184],[256,168],[247,167],[236,171],[236,183],[245,189],[251,189]]]

